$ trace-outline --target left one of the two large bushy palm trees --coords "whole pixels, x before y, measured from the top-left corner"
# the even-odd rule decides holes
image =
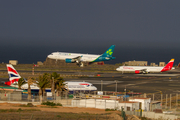
[[[42,76],[39,76],[39,79],[37,81],[37,85],[39,87],[39,96],[42,97],[45,95],[45,88],[50,87],[49,83],[49,74],[44,73]]]

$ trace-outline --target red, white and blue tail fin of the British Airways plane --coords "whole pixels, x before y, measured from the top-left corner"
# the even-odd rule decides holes
[[[12,83],[18,82],[21,76],[11,64],[7,64],[6,66],[9,75],[9,81],[5,82],[5,84],[10,86]]]

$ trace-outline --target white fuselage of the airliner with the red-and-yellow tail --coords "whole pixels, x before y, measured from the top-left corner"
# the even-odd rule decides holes
[[[151,66],[120,66],[116,70],[117,71],[129,71],[135,72],[137,70],[145,70],[147,72],[161,72],[164,67],[151,67]]]

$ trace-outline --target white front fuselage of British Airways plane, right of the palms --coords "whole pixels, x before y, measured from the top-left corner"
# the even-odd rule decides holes
[[[71,82],[67,81],[64,82],[66,88],[69,91],[94,91],[97,90],[95,86],[93,86],[91,83],[88,82]]]

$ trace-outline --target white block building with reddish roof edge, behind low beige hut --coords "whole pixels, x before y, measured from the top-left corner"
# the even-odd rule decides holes
[[[140,108],[144,111],[150,110],[151,98],[130,98],[129,101],[140,102]]]

